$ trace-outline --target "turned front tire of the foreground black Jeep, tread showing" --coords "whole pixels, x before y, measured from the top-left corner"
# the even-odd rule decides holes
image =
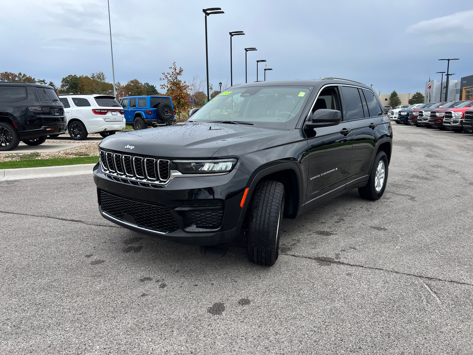
[[[265,180],[256,186],[246,248],[248,260],[254,264],[272,266],[278,259],[284,195],[279,181]]]

